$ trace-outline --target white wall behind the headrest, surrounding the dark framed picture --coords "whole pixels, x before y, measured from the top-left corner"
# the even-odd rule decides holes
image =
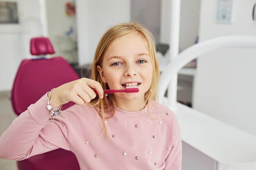
[[[4,0],[11,1],[13,0]],[[11,90],[22,59],[30,58],[29,40],[43,34],[41,4],[35,0],[18,2],[19,24],[0,24],[0,91]]]

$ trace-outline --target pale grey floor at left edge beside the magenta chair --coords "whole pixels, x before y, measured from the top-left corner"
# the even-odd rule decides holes
[[[16,118],[11,108],[9,91],[0,92],[0,136]],[[17,170],[16,161],[0,159],[0,170]]]

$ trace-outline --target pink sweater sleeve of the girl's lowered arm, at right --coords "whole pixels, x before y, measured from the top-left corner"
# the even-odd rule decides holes
[[[174,118],[174,142],[171,146],[171,151],[165,160],[166,166],[164,170],[181,170],[182,165],[182,140],[180,126],[176,116]]]

